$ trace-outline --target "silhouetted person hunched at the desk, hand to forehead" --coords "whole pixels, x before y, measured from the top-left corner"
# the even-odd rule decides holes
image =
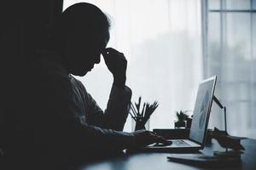
[[[40,149],[44,157],[109,156],[155,142],[166,143],[150,131],[123,132],[131,89],[125,85],[125,55],[106,48],[109,26],[100,8],[90,3],[73,4],[55,20],[49,41],[28,63],[29,105],[24,124],[33,148]],[[105,111],[72,76],[86,75],[101,62],[101,54],[113,75]]]

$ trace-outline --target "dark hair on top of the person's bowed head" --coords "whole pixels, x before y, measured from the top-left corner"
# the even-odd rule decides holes
[[[100,8],[90,3],[75,3],[55,20],[49,37],[51,42],[60,43],[65,37],[79,31],[88,37],[97,35],[109,38],[109,28],[110,20]]]

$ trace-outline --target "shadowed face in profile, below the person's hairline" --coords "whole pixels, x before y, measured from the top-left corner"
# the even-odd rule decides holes
[[[83,77],[101,61],[102,49],[106,48],[109,36],[88,37],[75,34],[67,42],[67,60],[70,72]]]

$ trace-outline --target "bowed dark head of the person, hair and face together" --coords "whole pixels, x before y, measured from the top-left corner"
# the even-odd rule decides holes
[[[68,69],[84,76],[100,62],[109,40],[110,22],[100,8],[90,3],[68,7],[52,27],[52,47],[67,60]]]

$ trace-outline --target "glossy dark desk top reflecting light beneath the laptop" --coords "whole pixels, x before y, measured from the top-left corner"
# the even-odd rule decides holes
[[[218,167],[218,169],[256,169],[256,140],[244,139],[241,144],[245,147],[245,153],[241,156],[241,166],[239,167]],[[212,150],[221,150],[215,140],[202,150],[203,153],[210,155]],[[217,169],[202,168],[184,165],[173,161],[167,161],[168,153],[134,153],[118,158],[111,158],[91,163],[82,163],[79,170],[177,170],[177,169]]]

